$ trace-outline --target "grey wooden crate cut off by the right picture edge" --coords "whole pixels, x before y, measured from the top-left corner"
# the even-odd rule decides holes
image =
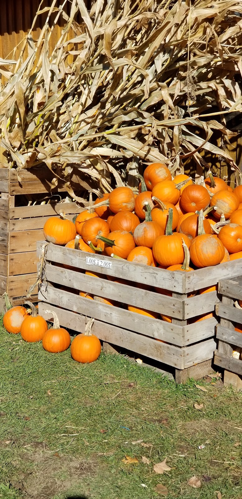
[[[222,280],[219,283],[222,301],[216,306],[220,324],[217,326],[218,350],[214,362],[225,369],[224,384],[232,385],[242,390],[242,333],[235,330],[235,324],[242,324],[242,310],[235,306],[242,299],[242,277]],[[239,349],[239,358],[233,356],[233,351]]]

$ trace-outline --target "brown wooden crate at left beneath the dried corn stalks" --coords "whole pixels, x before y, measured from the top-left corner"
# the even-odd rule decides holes
[[[19,195],[43,193],[44,197],[51,190],[53,178],[46,167],[24,170],[20,176],[21,183],[16,170],[0,168],[0,295],[7,291],[14,303],[20,302],[36,281],[36,242],[43,239],[45,221],[60,211],[72,220],[81,211],[76,203],[16,206]],[[79,179],[74,182],[80,185]],[[60,185],[53,192],[64,191],[64,185]],[[37,297],[37,289],[33,297]],[[3,305],[1,300],[1,311]]]

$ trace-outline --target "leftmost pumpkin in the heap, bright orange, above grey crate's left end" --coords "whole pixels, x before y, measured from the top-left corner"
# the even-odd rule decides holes
[[[60,213],[60,218],[50,217],[46,220],[43,231],[48,243],[60,246],[66,245],[77,235],[75,224],[66,219],[63,212]]]

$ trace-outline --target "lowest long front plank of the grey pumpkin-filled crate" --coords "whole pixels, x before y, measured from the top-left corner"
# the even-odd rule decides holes
[[[51,314],[46,312],[46,310],[50,309],[51,303],[39,303],[39,314],[43,317],[51,317]],[[72,327],[75,330],[80,329],[83,331],[85,317],[61,308],[54,309],[52,307],[52,309],[57,313],[62,326]],[[116,327],[112,324],[106,324],[98,320],[94,321],[92,330],[94,334],[96,334],[103,341],[112,342],[114,345],[120,345],[127,350],[134,351],[140,355],[145,355],[146,357],[158,360],[159,362],[166,363],[173,367],[183,367],[183,354],[182,349],[179,347],[161,343],[153,338],[148,338],[147,336],[142,336],[132,331]]]

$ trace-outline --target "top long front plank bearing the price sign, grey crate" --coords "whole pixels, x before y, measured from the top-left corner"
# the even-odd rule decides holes
[[[37,254],[41,252],[44,242],[39,242],[37,246]],[[55,261],[56,263],[64,263],[67,261],[73,267],[82,268],[84,270],[98,271],[101,274],[113,275],[122,277],[123,279],[131,280],[132,282],[141,282],[151,286],[166,288],[174,292],[183,292],[185,286],[185,273],[188,272],[171,272],[162,268],[148,267],[147,265],[137,265],[129,261],[117,260],[108,256],[95,255],[98,259],[106,259],[112,264],[111,268],[104,268],[86,263],[86,256],[90,253],[85,251],[70,250],[50,244],[47,248],[46,259]]]

